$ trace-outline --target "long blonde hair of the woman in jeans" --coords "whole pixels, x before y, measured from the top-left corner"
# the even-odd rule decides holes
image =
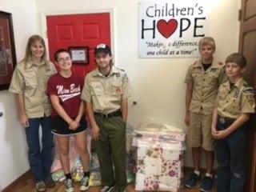
[[[32,59],[31,46],[34,42],[42,43],[44,52],[42,54],[41,62],[44,61],[44,62],[46,62],[46,66],[49,66],[49,62],[46,59],[46,43],[41,36],[39,36],[38,34],[34,34],[27,41],[25,57],[22,59],[22,62],[25,62],[25,69],[27,68],[27,63],[30,62]]]

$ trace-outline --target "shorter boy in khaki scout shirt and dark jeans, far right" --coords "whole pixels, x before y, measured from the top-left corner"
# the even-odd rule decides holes
[[[246,121],[255,112],[254,90],[243,80],[246,58],[226,58],[228,82],[218,89],[212,134],[216,139],[218,192],[244,191],[246,174]]]

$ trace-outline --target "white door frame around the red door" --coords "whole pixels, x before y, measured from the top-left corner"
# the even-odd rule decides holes
[[[115,23],[115,9],[114,7],[110,8],[103,8],[103,9],[86,9],[86,10],[72,10],[72,11],[59,11],[59,12],[42,12],[41,13],[41,34],[42,38],[46,42],[46,48],[49,47],[48,43],[48,37],[47,37],[47,23],[46,23],[46,17],[50,15],[67,15],[67,14],[103,14],[108,13],[110,14],[110,42],[111,42],[111,51],[112,51],[112,58],[114,61],[114,65],[116,66],[116,63],[118,63],[117,55],[115,54],[115,45],[116,45],[116,27],[114,25]],[[48,50],[49,53],[49,50]],[[49,54],[48,54],[49,58]]]

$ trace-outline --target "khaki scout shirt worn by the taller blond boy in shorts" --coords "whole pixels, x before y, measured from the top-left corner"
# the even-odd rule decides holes
[[[214,102],[218,86],[227,80],[224,65],[213,60],[212,65],[205,71],[202,61],[198,60],[189,66],[185,82],[193,82],[193,93],[190,111],[202,114],[213,114]]]

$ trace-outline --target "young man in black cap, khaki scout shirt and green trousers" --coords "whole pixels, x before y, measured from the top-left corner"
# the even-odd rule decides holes
[[[126,119],[129,81],[123,70],[113,66],[109,46],[98,45],[94,56],[98,69],[87,74],[82,100],[86,101],[101,167],[101,191],[110,192],[115,187],[118,191],[124,191],[127,186]]]

